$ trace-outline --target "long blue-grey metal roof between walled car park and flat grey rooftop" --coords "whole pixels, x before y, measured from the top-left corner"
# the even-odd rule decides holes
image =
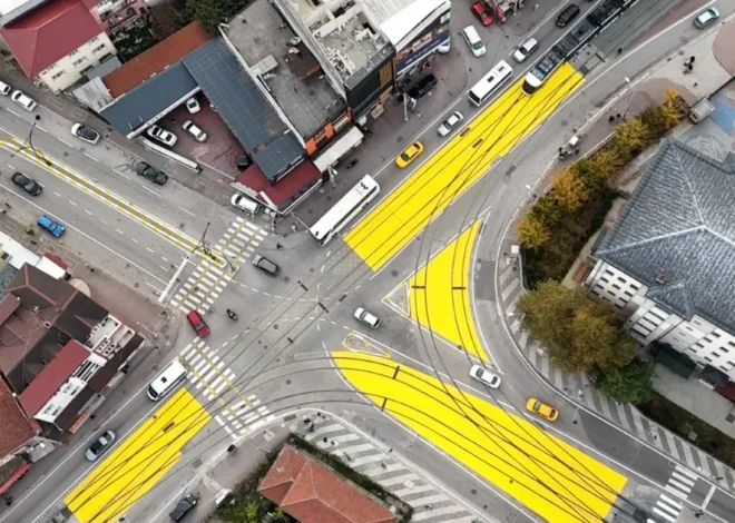
[[[229,130],[271,181],[296,165],[304,149],[220,39],[183,59]]]

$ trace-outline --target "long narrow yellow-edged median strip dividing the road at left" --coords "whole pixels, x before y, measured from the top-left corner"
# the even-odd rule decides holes
[[[0,140],[0,147],[9,151],[16,151],[19,146],[22,146],[22,142],[14,137],[12,138],[11,141]],[[42,151],[39,152],[43,154]],[[92,198],[105,204],[106,206],[111,207],[118,213],[127,216],[138,225],[141,225],[143,227],[153,230],[157,235],[166,238],[168,241],[180,247],[184,250],[192,250],[199,244],[199,241],[196,240],[195,238],[192,238],[190,236],[182,233],[176,227],[166,224],[165,221],[160,220],[159,218],[155,217],[148,211],[136,206],[131,201],[125,200],[121,196],[116,195],[106,187],[101,187],[96,181],[75,171],[70,167],[61,164],[60,161],[56,160],[50,156],[43,155],[42,157],[43,159],[49,160],[50,165],[48,165],[41,157],[37,156],[32,151],[23,149],[18,151],[17,154],[22,156],[27,160],[38,165],[40,168],[46,169],[47,171],[56,175],[57,177],[61,178],[62,180],[76,187],[77,189],[81,190],[82,193],[87,194],[88,196],[91,196]],[[202,257],[206,256],[203,253],[199,253],[199,255]],[[214,262],[217,265],[224,264],[224,262],[220,260],[218,256],[215,256]]]

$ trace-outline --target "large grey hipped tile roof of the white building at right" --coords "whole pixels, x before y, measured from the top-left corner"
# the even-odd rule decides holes
[[[719,164],[667,140],[595,254],[664,308],[735,333],[734,203],[733,158]]]

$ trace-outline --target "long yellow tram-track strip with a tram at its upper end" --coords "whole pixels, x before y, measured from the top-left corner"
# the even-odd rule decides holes
[[[345,235],[347,245],[379,270],[581,82],[568,63],[533,96],[525,95],[518,80],[360,220]]]

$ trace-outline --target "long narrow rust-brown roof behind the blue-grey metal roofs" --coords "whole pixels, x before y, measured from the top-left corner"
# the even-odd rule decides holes
[[[117,98],[178,62],[210,38],[212,34],[196,20],[102,77],[102,82],[110,96]]]

